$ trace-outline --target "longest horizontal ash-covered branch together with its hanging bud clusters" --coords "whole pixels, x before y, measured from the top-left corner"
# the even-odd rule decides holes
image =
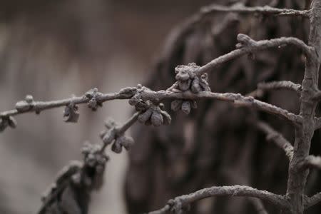
[[[238,93],[213,93],[208,91],[210,89],[208,84],[206,84],[206,81],[203,81],[202,78],[200,78],[199,81],[200,82],[198,84],[193,84],[193,82],[188,84],[188,87],[192,87],[192,91],[152,91],[149,88],[138,85],[137,88],[123,88],[118,93],[100,93],[95,90],[95,93],[98,94],[98,96],[88,96],[88,93],[86,93],[87,95],[82,97],[73,97],[58,101],[19,101],[16,104],[16,110],[4,111],[0,113],[0,128],[2,126],[4,126],[4,128],[6,128],[6,126],[15,127],[16,123],[14,121],[14,118],[12,118],[13,115],[29,113],[34,111],[40,112],[46,109],[58,108],[61,106],[66,106],[65,112],[63,114],[63,116],[67,117],[66,121],[75,122],[78,120],[78,108],[76,108],[76,104],[88,103],[88,106],[91,106],[92,109],[96,110],[96,108],[93,108],[93,106],[96,106],[92,105],[93,103],[100,103],[99,105],[101,105],[101,103],[105,101],[111,101],[115,99],[129,99],[129,102],[133,106],[136,106],[137,111],[142,111],[143,113],[147,111],[148,113],[146,114],[148,117],[146,118],[146,120],[142,118],[142,120],[140,121],[148,123],[151,122],[154,126],[160,126],[161,124],[168,125],[170,123],[170,116],[162,109],[163,107],[155,106],[154,104],[159,103],[160,101],[165,99],[183,100],[189,102],[201,99],[216,99],[220,101],[228,101],[233,102],[238,106],[252,107],[260,111],[265,111],[267,113],[280,116],[281,118],[285,118],[287,121],[290,121],[291,123],[301,123],[301,116],[295,115],[294,113],[290,113],[283,108],[273,106],[270,103],[259,101],[250,96],[242,96]],[[195,87],[194,93],[193,86],[198,86]],[[199,89],[199,91],[197,89]],[[93,103],[91,103],[91,101],[93,101]],[[189,105],[193,106],[193,104]],[[22,106],[24,106],[24,108]],[[1,130],[3,130],[4,128],[1,128]]]

